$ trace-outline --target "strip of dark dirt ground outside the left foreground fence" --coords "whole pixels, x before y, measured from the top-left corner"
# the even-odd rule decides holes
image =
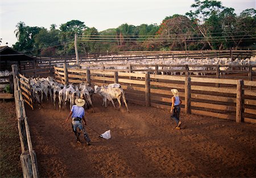
[[[0,177],[22,177],[14,100],[0,101]]]

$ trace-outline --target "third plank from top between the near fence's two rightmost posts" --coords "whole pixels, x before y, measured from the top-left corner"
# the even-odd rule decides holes
[[[201,99],[201,100],[210,100],[210,101],[222,101],[222,102],[232,102],[236,103],[236,98],[230,98],[230,97],[220,97],[220,96],[213,96],[213,95],[207,95],[207,94],[195,94],[191,93],[191,98],[195,99]]]

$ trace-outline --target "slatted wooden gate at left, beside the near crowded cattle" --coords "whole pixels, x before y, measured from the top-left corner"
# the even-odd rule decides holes
[[[19,77],[23,100],[32,108],[32,110],[34,110],[30,80],[22,74],[19,74]]]

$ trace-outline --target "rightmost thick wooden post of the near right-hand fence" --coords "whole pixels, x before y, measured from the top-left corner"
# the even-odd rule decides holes
[[[236,122],[243,122],[243,80],[237,80]]]

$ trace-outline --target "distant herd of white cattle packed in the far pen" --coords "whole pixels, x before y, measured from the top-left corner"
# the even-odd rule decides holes
[[[226,67],[220,67],[220,71],[230,71],[233,69],[233,67],[230,67],[232,65],[256,65],[256,56],[252,56],[247,59],[234,59],[231,58],[205,58],[205,59],[193,59],[193,58],[184,58],[184,59],[173,59],[172,56],[166,56],[166,58],[159,58],[151,57],[151,58],[142,58],[138,59],[138,56],[133,59],[133,56],[131,55],[129,57],[129,60],[117,60],[113,61],[111,60],[112,56],[109,56],[109,59],[106,58],[105,61],[85,61],[81,64],[82,69],[102,69],[100,65],[88,65],[88,64],[101,64],[105,65],[105,69],[117,69],[117,70],[127,70],[127,65],[135,64],[135,65],[152,65],[152,67],[133,67],[133,69],[141,69],[142,71],[153,71],[155,70],[155,65],[158,64],[158,70],[162,71],[160,74],[177,74],[177,72],[172,71],[184,71],[184,67],[168,67],[160,65],[188,65],[189,71],[210,71],[210,70],[216,70],[216,65],[229,65]],[[122,56],[121,56],[122,57]],[[69,65],[74,65],[75,63],[69,63]],[[113,65],[113,66],[111,66]],[[193,67],[193,65],[210,65],[212,67]],[[238,67],[237,67],[238,68]],[[238,68],[237,70],[246,70],[246,68]],[[256,70],[256,68],[253,68],[253,70]],[[169,72],[167,72],[169,71]],[[134,73],[143,73],[141,71],[134,71]],[[179,73],[184,74],[184,73]],[[196,75],[204,75],[204,72],[195,72]],[[225,74],[225,72],[221,73]]]

